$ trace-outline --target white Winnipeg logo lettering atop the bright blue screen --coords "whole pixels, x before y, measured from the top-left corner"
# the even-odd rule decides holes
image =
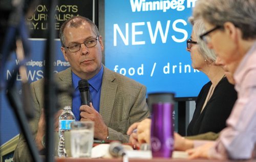
[[[194,3],[196,0],[187,0],[187,7],[190,8],[190,3]],[[130,0],[131,8],[133,12],[146,12],[146,11],[159,11],[166,12],[169,9],[183,11],[185,0],[158,0],[147,1],[146,0]]]

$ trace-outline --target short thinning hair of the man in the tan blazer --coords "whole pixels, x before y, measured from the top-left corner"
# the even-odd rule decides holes
[[[68,26],[68,24],[71,28],[78,28],[81,25],[83,25],[84,22],[88,22],[89,25],[91,26],[93,32],[97,36],[99,36],[99,30],[98,30],[97,26],[94,24],[94,22],[92,20],[90,20],[87,17],[83,17],[83,16],[73,16],[70,19],[63,22],[63,24],[61,25],[61,27],[59,29],[59,39],[60,39],[62,47],[65,47],[65,44],[64,44],[65,43],[64,30]]]

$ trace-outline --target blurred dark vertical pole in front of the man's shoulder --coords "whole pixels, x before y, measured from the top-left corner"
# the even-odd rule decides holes
[[[55,35],[54,29],[54,11],[57,5],[57,0],[48,0],[49,3],[49,28],[45,51],[45,83],[44,83],[44,94],[45,94],[45,114],[46,114],[46,159],[47,162],[54,161],[54,113],[57,110],[56,104],[56,86],[54,83],[53,76],[53,61],[55,59]]]

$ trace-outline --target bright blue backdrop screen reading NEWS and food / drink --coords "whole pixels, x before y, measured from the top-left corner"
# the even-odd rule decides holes
[[[187,21],[196,0],[105,0],[105,65],[147,92],[197,97],[208,78],[191,67]]]

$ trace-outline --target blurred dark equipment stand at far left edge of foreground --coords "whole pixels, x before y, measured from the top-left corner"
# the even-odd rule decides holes
[[[24,5],[25,5],[24,3],[25,3],[24,0],[20,1],[20,5],[15,8],[15,10],[10,14],[10,17],[8,19],[8,29],[7,29],[5,41],[3,43],[3,48],[2,48],[3,57],[1,60],[1,70],[0,70],[1,74],[4,74],[3,72],[5,68],[4,66],[5,62],[14,46],[13,44],[15,44],[15,40],[17,36],[20,37],[20,39],[16,40],[17,57],[19,59],[23,59],[22,61],[24,63],[25,54],[30,53],[30,48],[28,44],[28,31],[26,29],[25,17],[23,12]],[[19,67],[19,72],[22,75],[23,88],[27,88],[27,89],[24,89],[24,91],[26,91],[25,95],[28,95],[30,93],[30,90],[29,90],[29,84],[26,79],[26,67],[23,66],[23,63],[20,63],[22,66]],[[17,68],[14,71],[14,76],[12,76],[11,79],[8,81],[7,97],[17,117],[18,124],[20,125],[20,129],[23,132],[25,139],[27,141],[28,149],[31,153],[32,160],[40,162],[41,159],[39,157],[39,153],[37,151],[35,143],[33,141],[33,137],[29,129],[26,113],[25,113],[27,112],[27,117],[29,119],[33,118],[33,107],[32,107],[33,102],[31,102],[31,98],[29,96],[25,96],[25,95],[24,97],[26,101],[24,103],[20,101],[20,98],[19,98],[20,96],[17,94],[17,89],[14,86],[14,83],[16,81]],[[1,77],[1,78],[4,78],[4,77]],[[4,82],[4,79],[0,81],[1,81],[1,89],[2,89],[2,87],[5,87],[5,84],[4,84],[5,82]]]

